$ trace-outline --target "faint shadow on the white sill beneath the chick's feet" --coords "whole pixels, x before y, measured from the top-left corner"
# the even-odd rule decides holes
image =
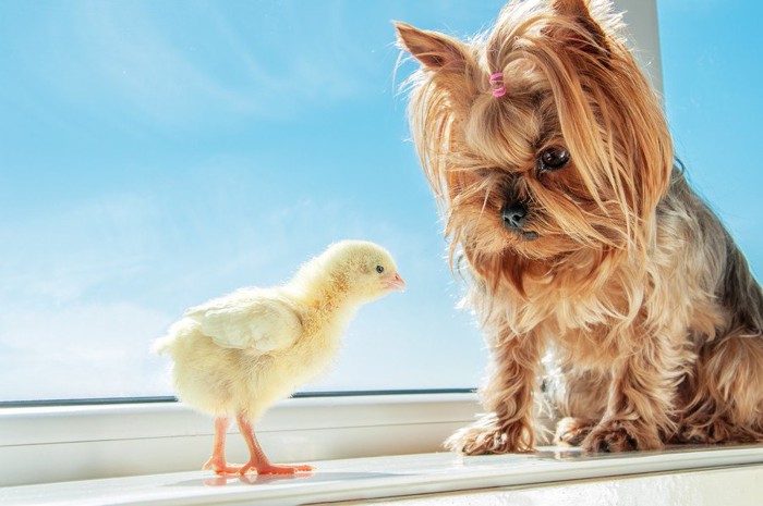
[[[196,480],[183,480],[165,486],[267,486],[290,481],[301,483],[323,483],[330,481],[370,480],[405,476],[391,472],[298,472],[295,474],[221,474]]]

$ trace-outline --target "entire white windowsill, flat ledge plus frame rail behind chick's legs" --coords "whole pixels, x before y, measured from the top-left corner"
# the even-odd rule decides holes
[[[0,410],[0,504],[287,505],[392,501],[412,494],[445,494],[449,504],[484,504],[485,494],[516,495],[517,486],[541,494],[533,496],[535,502],[541,497],[538,504],[583,504],[552,499],[569,497],[576,486],[577,493],[588,494],[593,482],[573,480],[597,479],[605,481],[595,486],[638,496],[643,492],[639,486],[656,486],[655,473],[664,472],[678,474],[669,474],[667,484],[659,482],[662,488],[714,483],[723,489],[734,479],[743,491],[740,497],[763,495],[763,445],[595,457],[550,447],[534,455],[435,453],[479,411],[474,394],[289,399],[259,423],[261,440],[274,460],[311,462],[316,472],[223,479],[197,470],[211,448],[211,419],[180,404],[5,408]],[[246,459],[235,428],[228,448],[231,461]],[[718,468],[724,473],[693,472]],[[641,485],[616,478],[637,474],[653,478]]]

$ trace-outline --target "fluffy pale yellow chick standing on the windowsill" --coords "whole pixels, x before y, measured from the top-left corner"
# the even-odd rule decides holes
[[[360,306],[404,287],[386,249],[342,240],[303,264],[282,286],[241,288],[185,311],[154,349],[174,360],[178,397],[215,417],[213,454],[204,469],[219,474],[312,470],[270,464],[253,423],[270,405],[326,370]],[[241,467],[228,465],[225,457],[231,416],[250,451],[249,462]]]

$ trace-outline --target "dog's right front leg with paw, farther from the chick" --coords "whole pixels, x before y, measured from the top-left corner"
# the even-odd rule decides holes
[[[632,341],[638,342],[638,341]],[[583,441],[589,452],[659,449],[675,431],[675,397],[685,351],[670,340],[644,340],[615,362],[607,409]]]

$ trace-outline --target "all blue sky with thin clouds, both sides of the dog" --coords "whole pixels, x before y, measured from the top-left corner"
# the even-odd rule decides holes
[[[0,3],[0,398],[167,395],[147,348],[184,308],[344,237],[385,245],[410,289],[362,309],[311,388],[477,384],[390,21],[465,36],[501,5]],[[760,11],[659,3],[678,152],[759,272]]]

